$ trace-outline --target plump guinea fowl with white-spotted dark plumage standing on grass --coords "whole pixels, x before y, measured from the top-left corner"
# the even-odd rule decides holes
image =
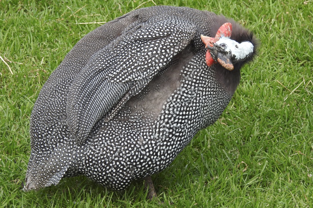
[[[137,9],[98,27],[39,93],[24,190],[85,175],[115,190],[146,178],[155,196],[150,176],[219,118],[255,50],[233,20],[187,7]]]

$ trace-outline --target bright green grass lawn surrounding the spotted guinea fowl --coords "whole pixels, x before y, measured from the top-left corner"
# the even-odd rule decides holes
[[[254,31],[259,56],[242,69],[221,118],[154,175],[170,207],[313,207],[313,2],[0,1],[0,207],[159,207],[142,181],[111,191],[85,177],[23,192],[29,117],[44,82],[74,44],[137,7],[223,13]],[[79,24],[89,23],[89,24]],[[170,204],[172,203],[172,204]]]

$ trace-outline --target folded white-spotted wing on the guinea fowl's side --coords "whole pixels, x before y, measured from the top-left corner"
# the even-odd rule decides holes
[[[95,53],[68,92],[66,121],[75,140],[82,143],[99,119],[110,119],[138,94],[196,31],[194,24],[181,18],[153,17],[126,27]]]

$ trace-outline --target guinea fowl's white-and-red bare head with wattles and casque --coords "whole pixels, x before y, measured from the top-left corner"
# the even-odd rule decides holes
[[[234,64],[248,60],[254,53],[254,45],[250,41],[238,43],[230,39],[232,24],[227,22],[217,31],[215,37],[201,35],[201,40],[208,48],[205,59],[208,66],[219,63],[227,70],[233,70]]]

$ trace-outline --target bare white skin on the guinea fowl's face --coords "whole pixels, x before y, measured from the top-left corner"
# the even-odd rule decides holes
[[[224,49],[225,51],[231,51],[232,55],[236,57],[236,60],[243,60],[245,59],[250,53],[253,52],[253,45],[250,42],[242,42],[238,43],[228,37],[221,37],[216,43],[220,46],[225,44]]]

